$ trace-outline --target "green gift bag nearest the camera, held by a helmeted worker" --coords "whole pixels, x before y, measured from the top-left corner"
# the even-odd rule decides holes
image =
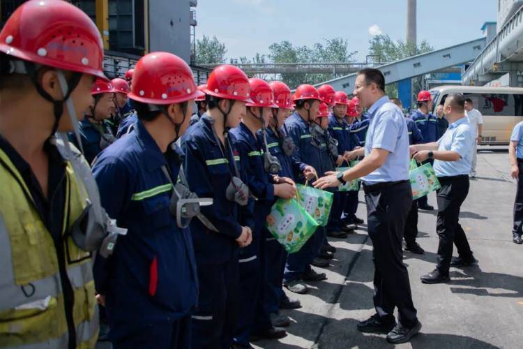
[[[314,234],[318,222],[296,199],[278,199],[267,216],[266,227],[288,253],[294,253]]]

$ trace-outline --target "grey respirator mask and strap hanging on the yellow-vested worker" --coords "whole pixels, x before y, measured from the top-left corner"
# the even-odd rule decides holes
[[[60,133],[61,140],[52,140],[56,144],[61,156],[69,161],[79,183],[86,188],[86,207],[82,214],[73,223],[70,234],[75,244],[86,252],[100,250],[100,255],[107,258],[114,251],[118,235],[126,235],[127,229],[116,226],[100,204],[100,193],[93,178],[91,168],[82,154],[75,147],[71,147],[66,136]]]

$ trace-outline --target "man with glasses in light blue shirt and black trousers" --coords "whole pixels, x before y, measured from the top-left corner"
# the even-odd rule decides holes
[[[365,68],[358,72],[354,94],[361,105],[368,108],[370,125],[365,148],[351,151],[351,155],[365,155],[365,158],[345,172],[328,172],[315,181],[314,186],[336,187],[362,177],[367,226],[373,246],[376,314],[358,322],[358,329],[361,332],[388,332],[388,342],[404,343],[421,329],[402,253],[404,225],[412,204],[409,136],[402,112],[391,103],[384,89],[385,78],[378,69]]]

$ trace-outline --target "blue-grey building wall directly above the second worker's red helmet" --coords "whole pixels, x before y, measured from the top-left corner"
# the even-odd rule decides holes
[[[189,0],[149,0],[149,49],[190,61]]]

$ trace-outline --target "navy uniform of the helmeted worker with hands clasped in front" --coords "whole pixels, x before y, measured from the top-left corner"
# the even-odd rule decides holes
[[[200,198],[213,198],[213,205],[202,207],[201,211],[219,231],[213,232],[194,219],[190,223],[200,285],[198,309],[192,316],[193,348],[232,346],[240,306],[236,239],[241,235],[242,225],[252,230],[255,225],[252,202],[241,207],[226,197],[233,175],[239,174],[243,183],[247,183],[245,159],[241,159],[231,132],[227,132],[229,146],[217,142],[213,122],[204,114],[188,128],[181,141],[190,191]]]

